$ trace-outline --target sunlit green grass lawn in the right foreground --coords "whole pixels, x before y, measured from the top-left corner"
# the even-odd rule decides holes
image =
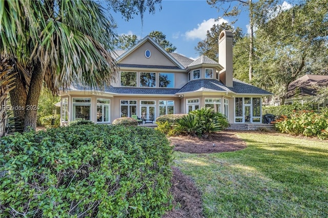
[[[206,217],[328,217],[328,141],[238,133],[235,152],[175,152]]]

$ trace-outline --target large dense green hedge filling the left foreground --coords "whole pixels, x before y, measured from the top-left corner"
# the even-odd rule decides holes
[[[0,139],[2,217],[161,217],[172,148],[150,128],[78,125]]]

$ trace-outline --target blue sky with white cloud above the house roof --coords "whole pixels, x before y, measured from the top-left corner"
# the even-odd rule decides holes
[[[211,8],[206,0],[162,0],[162,9],[156,8],[155,14],[144,15],[144,26],[141,30],[140,16],[128,22],[119,13],[112,13],[118,28],[117,33],[135,34],[144,38],[152,31],[161,31],[175,47],[176,53],[189,58],[197,58],[194,47],[206,38],[207,30],[214,25],[215,19],[220,15],[217,9]],[[225,18],[226,21],[233,18]],[[240,27],[247,33],[248,14],[242,13],[234,27]]]

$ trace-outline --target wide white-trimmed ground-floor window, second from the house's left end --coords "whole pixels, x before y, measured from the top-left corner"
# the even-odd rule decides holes
[[[90,120],[91,98],[73,98],[72,120]]]

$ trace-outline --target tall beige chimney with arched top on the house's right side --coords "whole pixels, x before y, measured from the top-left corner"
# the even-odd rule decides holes
[[[219,64],[223,70],[219,72],[221,82],[228,87],[233,87],[233,60],[232,60],[232,39],[233,33],[223,30],[219,36]]]

